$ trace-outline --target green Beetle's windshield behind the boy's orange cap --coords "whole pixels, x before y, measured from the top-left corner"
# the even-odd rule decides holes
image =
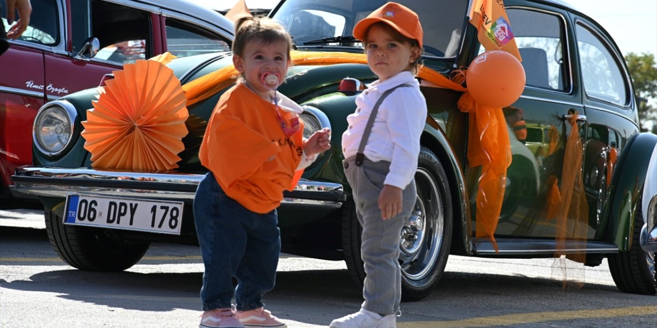
[[[299,49],[327,46],[361,49],[361,43],[348,38],[353,26],[384,3],[386,1],[379,0],[287,0],[273,18],[290,32]],[[466,22],[467,0],[399,0],[397,3],[419,14],[425,55],[451,57],[457,54],[461,28]]]

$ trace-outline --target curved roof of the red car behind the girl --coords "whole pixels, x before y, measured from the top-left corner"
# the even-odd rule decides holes
[[[147,5],[160,7],[166,10],[171,10],[173,12],[188,14],[190,16],[193,16],[194,18],[207,22],[208,24],[217,26],[222,30],[225,30],[231,35],[233,35],[234,26],[231,20],[229,20],[219,12],[212,10],[208,7],[199,5],[198,3],[194,3],[188,0],[133,0],[133,1],[137,3],[144,3]]]

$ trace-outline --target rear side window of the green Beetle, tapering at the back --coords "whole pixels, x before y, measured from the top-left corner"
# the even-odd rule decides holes
[[[627,104],[629,87],[625,74],[616,62],[616,56],[591,30],[578,24],[576,27],[579,66],[587,96],[614,104]]]

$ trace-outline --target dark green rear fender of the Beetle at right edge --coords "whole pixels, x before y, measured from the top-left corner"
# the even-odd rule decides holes
[[[646,181],[650,155],[656,144],[655,134],[640,133],[631,136],[614,169],[602,220],[608,222],[607,236],[610,241],[616,243],[620,252],[627,251],[632,246],[631,236],[637,205]]]

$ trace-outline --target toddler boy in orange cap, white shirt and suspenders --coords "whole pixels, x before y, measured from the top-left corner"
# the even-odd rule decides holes
[[[399,239],[415,205],[415,171],[426,101],[415,79],[422,27],[415,12],[386,3],[356,24],[367,64],[379,79],[356,98],[342,134],[344,172],[363,226],[365,262],[361,310],[331,328],[392,328],[401,301]]]

